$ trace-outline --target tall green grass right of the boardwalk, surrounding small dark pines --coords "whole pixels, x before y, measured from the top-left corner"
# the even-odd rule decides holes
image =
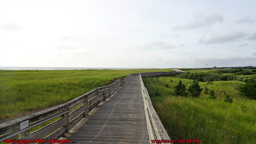
[[[209,94],[204,94],[204,90],[199,98],[175,95],[174,86],[179,80],[175,76],[143,78],[152,104],[170,138],[200,139],[202,144],[255,144],[256,100],[238,94],[238,86],[244,82],[199,82],[201,88],[208,86],[209,91],[215,91],[217,98],[213,100],[208,98]],[[181,80],[188,86],[193,81]],[[166,88],[166,84],[170,88]],[[154,94],[157,87],[161,96]],[[233,98],[231,104],[224,102],[225,90]]]

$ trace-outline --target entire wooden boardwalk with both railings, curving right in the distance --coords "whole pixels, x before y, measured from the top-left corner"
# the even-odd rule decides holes
[[[154,138],[170,139],[153,110],[141,77],[182,73],[179,70],[132,73],[60,106],[0,124],[0,142],[50,140],[64,135],[59,140],[69,138],[77,143],[149,143]],[[79,107],[69,112],[76,106]],[[60,119],[29,132],[30,128],[57,116]]]

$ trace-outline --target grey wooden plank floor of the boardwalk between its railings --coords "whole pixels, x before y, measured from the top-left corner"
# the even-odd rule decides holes
[[[132,76],[110,99],[100,104],[60,140],[77,144],[148,144],[148,129],[140,76]]]

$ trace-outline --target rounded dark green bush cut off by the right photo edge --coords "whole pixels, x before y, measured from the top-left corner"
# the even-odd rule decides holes
[[[239,86],[239,94],[256,100],[256,82],[247,82],[244,86]]]

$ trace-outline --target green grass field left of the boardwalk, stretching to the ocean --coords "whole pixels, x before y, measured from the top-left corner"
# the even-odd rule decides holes
[[[62,104],[140,70],[0,70],[0,121]]]

